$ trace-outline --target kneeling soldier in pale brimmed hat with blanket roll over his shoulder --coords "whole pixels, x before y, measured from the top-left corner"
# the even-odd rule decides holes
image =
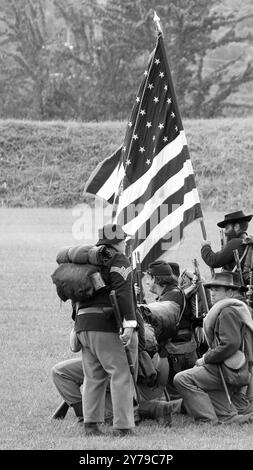
[[[242,347],[243,326],[247,325],[250,333],[253,331],[250,310],[241,296],[246,288],[241,286],[239,274],[229,271],[215,273],[205,286],[211,288],[213,304],[204,319],[210,348],[196,361],[196,367],[175,375],[174,385],[187,413],[196,421],[249,423],[253,421],[252,403],[246,395],[242,396],[240,388],[227,385],[226,390],[220,372],[221,364]],[[252,355],[252,334],[249,338],[249,354]]]

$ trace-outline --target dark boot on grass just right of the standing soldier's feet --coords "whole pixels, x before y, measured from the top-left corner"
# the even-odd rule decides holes
[[[172,406],[166,401],[152,400],[140,403],[141,419],[155,419],[162,426],[171,426]]]

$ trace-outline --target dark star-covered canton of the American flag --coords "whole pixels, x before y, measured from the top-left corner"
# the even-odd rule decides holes
[[[122,146],[124,188],[149,170],[155,156],[182,130],[166,57],[158,44],[138,90]]]

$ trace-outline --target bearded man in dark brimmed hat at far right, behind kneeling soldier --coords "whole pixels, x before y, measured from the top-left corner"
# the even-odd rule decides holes
[[[248,247],[251,244],[251,237],[247,234],[247,229],[252,217],[252,214],[245,215],[243,211],[237,211],[226,214],[224,220],[218,222],[218,227],[224,229],[227,243],[224,248],[215,253],[210,242],[206,240],[202,242],[201,256],[208,266],[232,271],[235,268],[233,250],[237,249],[241,259],[241,268],[244,271],[244,264],[247,262],[248,257]],[[245,277],[245,283],[247,283],[249,272],[245,273]]]

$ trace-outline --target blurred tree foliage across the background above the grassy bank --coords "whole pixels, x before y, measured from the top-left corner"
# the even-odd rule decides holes
[[[183,117],[252,114],[252,0],[1,0],[0,117],[126,119],[154,10]]]

